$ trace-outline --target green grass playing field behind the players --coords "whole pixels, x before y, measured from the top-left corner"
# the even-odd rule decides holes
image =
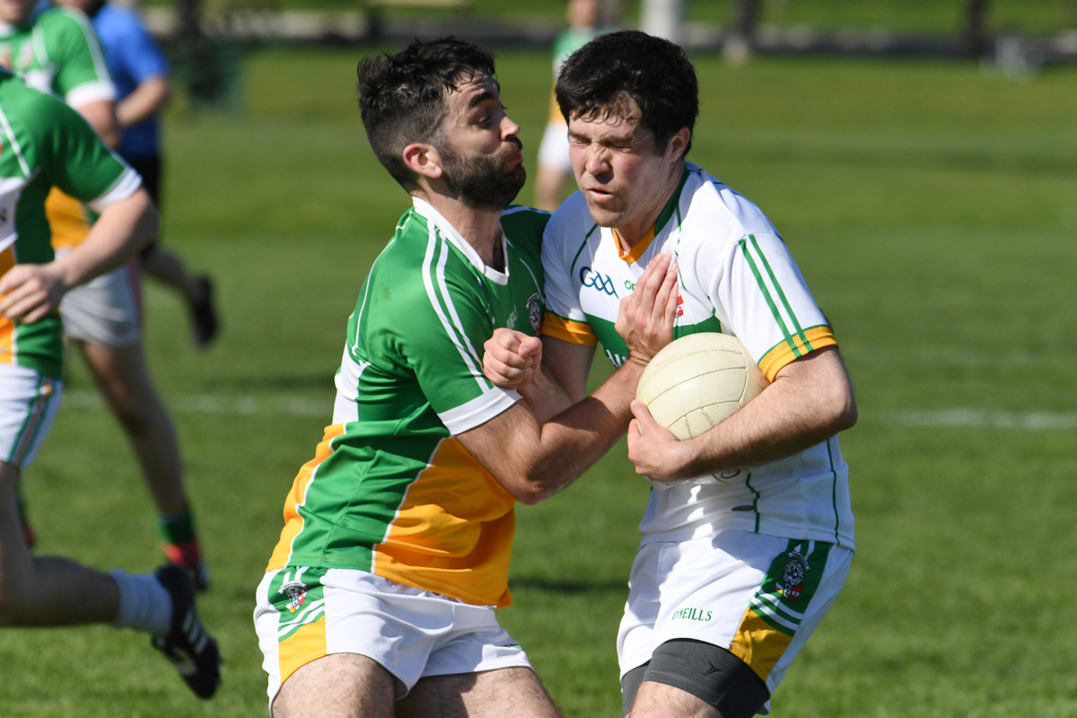
[[[252,56],[243,114],[168,126],[165,236],[218,279],[224,334],[195,353],[150,286],[148,346],[214,572],[201,610],[223,688],[198,703],[141,634],[4,631],[9,715],[265,715],[253,590],[328,421],[345,320],[408,205],[366,146],[356,59]],[[533,169],[548,58],[499,61]],[[1077,716],[1077,71],[1015,85],[966,65],[697,67],[691,158],[782,231],[861,406],[842,437],[859,550],[773,715]],[[130,451],[71,364],[26,477],[39,550],[152,569]],[[573,718],[619,716],[614,636],[645,499],[621,445],[518,511],[501,620]]]

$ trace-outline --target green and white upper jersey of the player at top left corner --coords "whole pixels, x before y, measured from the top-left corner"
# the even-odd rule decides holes
[[[72,8],[36,11],[20,25],[0,23],[0,65],[75,109],[116,98],[94,28]]]

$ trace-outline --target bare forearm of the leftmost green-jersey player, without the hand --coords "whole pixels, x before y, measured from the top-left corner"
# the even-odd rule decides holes
[[[68,288],[78,286],[130,259],[153,240],[157,227],[157,211],[139,189],[107,207],[86,238],[56,259],[55,267]]]

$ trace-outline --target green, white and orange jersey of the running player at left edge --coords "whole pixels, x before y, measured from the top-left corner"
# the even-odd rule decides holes
[[[100,212],[141,183],[78,112],[0,70],[0,276],[53,261],[45,197],[54,185]],[[0,318],[0,365],[59,378],[61,333],[56,313],[33,324]]]

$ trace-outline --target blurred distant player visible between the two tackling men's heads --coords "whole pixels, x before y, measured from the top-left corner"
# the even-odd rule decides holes
[[[554,41],[554,82],[569,55],[595,37],[599,22],[599,0],[569,0],[564,11],[569,29]],[[569,160],[569,128],[550,91],[549,123],[538,146],[538,175],[535,178],[535,207],[553,212],[561,203],[561,187],[572,173]]]

